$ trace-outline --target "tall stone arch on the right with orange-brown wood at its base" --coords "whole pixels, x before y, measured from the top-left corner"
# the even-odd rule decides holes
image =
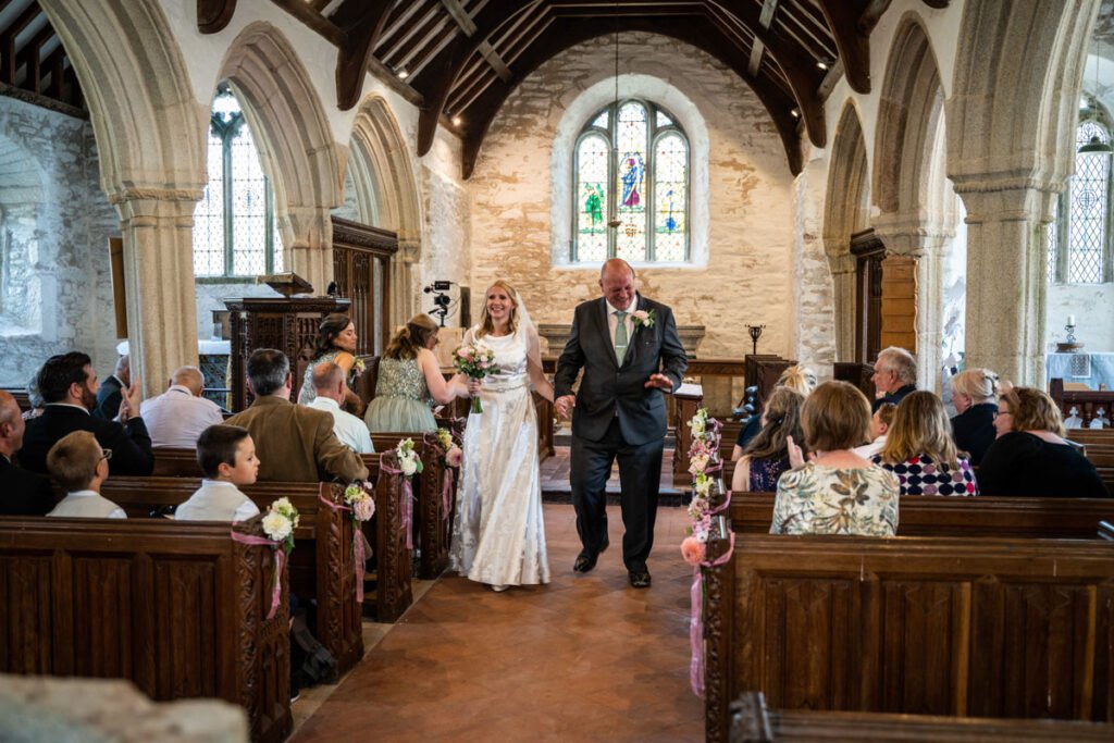
[[[944,114],[932,46],[920,17],[907,12],[893,36],[879,99],[872,184],[879,214],[873,223],[887,252],[882,345],[911,346],[918,384],[930,390],[939,384],[944,265],[956,222],[955,194],[945,175]],[[912,317],[900,301],[887,297],[895,290],[916,297]]]

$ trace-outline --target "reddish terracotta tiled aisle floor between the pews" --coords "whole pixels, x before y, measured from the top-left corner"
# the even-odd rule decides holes
[[[571,570],[571,506],[545,511],[550,585],[495,594],[441,578],[291,740],[701,740],[684,509],[658,509],[648,590],[627,586],[617,508],[613,547],[587,576]]]

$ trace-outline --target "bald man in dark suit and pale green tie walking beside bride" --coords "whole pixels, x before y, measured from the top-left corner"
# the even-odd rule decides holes
[[[673,311],[635,292],[634,268],[612,258],[599,274],[604,296],[576,309],[573,331],[557,361],[554,401],[573,408],[569,476],[576,530],[584,548],[573,569],[587,573],[607,549],[607,478],[618,457],[623,563],[631,585],[649,587],[646,558],[654,546],[657,488],[665,444],[665,395],[688,366]],[[579,392],[573,383],[584,369]]]

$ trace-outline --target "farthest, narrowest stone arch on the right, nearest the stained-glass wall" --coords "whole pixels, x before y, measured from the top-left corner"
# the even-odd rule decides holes
[[[843,105],[828,168],[823,239],[832,272],[836,316],[836,358],[856,354],[856,258],[851,235],[870,224],[870,182],[867,143],[853,100]]]

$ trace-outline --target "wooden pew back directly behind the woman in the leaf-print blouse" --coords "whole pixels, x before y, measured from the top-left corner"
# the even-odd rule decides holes
[[[769,534],[774,498],[772,492],[732,493],[731,528],[736,534]],[[1103,520],[1114,520],[1114,500],[901,496],[898,536],[1095,539]]]

